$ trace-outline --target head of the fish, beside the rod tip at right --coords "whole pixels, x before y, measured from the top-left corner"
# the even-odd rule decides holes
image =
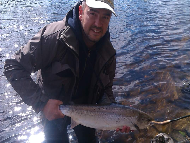
[[[151,121],[153,121],[153,118],[150,115],[140,112],[137,118],[136,126],[138,126],[139,129],[144,129],[150,125]]]

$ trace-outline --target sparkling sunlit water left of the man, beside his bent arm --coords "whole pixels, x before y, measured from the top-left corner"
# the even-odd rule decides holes
[[[74,1],[0,1],[0,142],[44,141],[40,118],[25,105],[3,75],[6,58],[13,57],[18,48],[39,29],[55,20],[63,19]]]

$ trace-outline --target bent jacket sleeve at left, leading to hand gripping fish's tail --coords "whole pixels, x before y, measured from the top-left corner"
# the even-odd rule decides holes
[[[31,73],[49,65],[56,51],[55,35],[45,37],[47,27],[37,33],[24,47],[15,54],[15,59],[7,59],[4,75],[22,100],[39,112],[47,103],[46,96],[32,78]]]

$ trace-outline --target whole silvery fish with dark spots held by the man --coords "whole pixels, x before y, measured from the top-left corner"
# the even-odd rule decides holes
[[[78,124],[98,130],[115,130],[123,126],[131,130],[144,129],[153,118],[148,114],[123,105],[60,105],[61,112],[71,117],[71,127]]]

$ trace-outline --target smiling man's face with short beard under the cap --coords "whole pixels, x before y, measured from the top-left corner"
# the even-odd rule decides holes
[[[79,7],[79,19],[81,21],[86,42],[98,42],[108,28],[111,11],[107,9],[90,8],[86,5],[84,11]]]

